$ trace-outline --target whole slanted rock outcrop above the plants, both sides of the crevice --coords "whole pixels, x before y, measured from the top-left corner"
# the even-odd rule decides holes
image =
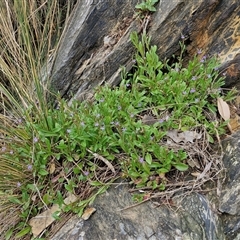
[[[134,48],[129,41],[132,31],[143,26],[134,15],[137,0],[78,1],[64,30],[48,77],[52,87],[70,98],[85,98],[86,92],[103,83],[120,81],[120,66],[131,69]],[[237,0],[160,1],[150,16],[148,34],[159,48],[161,59],[171,58],[180,50],[184,36],[192,58],[219,54],[219,69],[226,72],[226,85],[239,86],[240,40]]]

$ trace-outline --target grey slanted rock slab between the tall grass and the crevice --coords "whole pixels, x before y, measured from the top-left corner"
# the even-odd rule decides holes
[[[133,46],[129,33],[133,28],[128,29],[137,2],[78,2],[52,64],[54,89],[63,96],[76,92],[81,95],[87,89],[109,82],[121,65],[131,62]],[[114,79],[111,82],[116,84]]]

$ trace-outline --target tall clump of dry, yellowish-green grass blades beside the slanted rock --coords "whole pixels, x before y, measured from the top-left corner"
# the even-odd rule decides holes
[[[73,1],[74,2],[74,1]],[[33,178],[24,172],[22,159],[13,149],[28,145],[24,122],[46,117],[49,103],[47,82],[41,82],[42,67],[54,52],[73,2],[50,0],[8,1],[0,3],[0,228],[19,223],[20,207],[9,201],[19,192],[16,186],[23,179]],[[33,133],[34,134],[34,133]],[[4,153],[12,156],[5,156]],[[9,236],[14,236],[14,232]],[[1,236],[1,238],[4,238]]]

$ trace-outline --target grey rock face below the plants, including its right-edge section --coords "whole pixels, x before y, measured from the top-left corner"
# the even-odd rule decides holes
[[[74,216],[52,240],[239,239],[240,200],[239,187],[236,187],[240,185],[236,171],[240,164],[239,142],[240,132],[224,141],[227,173],[218,206],[199,193],[191,193],[184,198],[173,197],[171,208],[158,206],[154,201],[133,206],[129,186],[119,183],[98,196],[93,204],[97,211],[90,219],[84,221]],[[216,195],[214,191],[213,194]]]

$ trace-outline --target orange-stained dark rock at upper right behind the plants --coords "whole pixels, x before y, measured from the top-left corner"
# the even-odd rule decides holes
[[[159,54],[171,57],[185,37],[188,56],[198,49],[202,56],[219,54],[220,72],[226,72],[226,86],[240,88],[240,6],[238,1],[161,1],[153,17],[149,35],[159,46]],[[160,43],[160,44],[159,44]]]

